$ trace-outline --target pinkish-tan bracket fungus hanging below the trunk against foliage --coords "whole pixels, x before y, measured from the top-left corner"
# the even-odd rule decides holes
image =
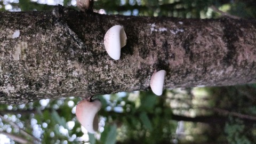
[[[95,133],[99,128],[98,111],[101,108],[99,100],[82,100],[76,106],[76,117],[82,126],[90,133]]]

